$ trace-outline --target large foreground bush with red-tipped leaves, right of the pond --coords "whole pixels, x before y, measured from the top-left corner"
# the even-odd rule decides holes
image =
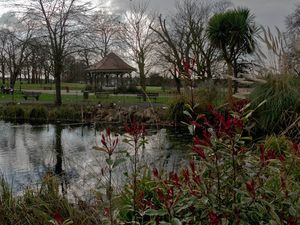
[[[244,120],[229,112],[209,109],[212,119],[198,115],[192,122],[193,160],[179,172],[153,169],[141,191],[137,209],[149,224],[299,224],[300,183],[293,168],[298,144],[280,150],[246,144]],[[277,143],[277,141],[276,141]],[[281,151],[291,152],[285,157]],[[277,147],[276,147],[277,148]],[[154,183],[153,183],[154,182]],[[148,189],[151,189],[151,195]],[[129,192],[130,193],[130,192]]]

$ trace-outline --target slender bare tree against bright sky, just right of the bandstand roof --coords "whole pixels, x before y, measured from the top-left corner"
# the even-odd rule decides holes
[[[130,58],[138,66],[140,85],[146,90],[146,75],[153,65],[153,55],[156,40],[154,31],[155,17],[148,11],[148,4],[132,5],[131,10],[125,15],[122,29],[122,41]]]

